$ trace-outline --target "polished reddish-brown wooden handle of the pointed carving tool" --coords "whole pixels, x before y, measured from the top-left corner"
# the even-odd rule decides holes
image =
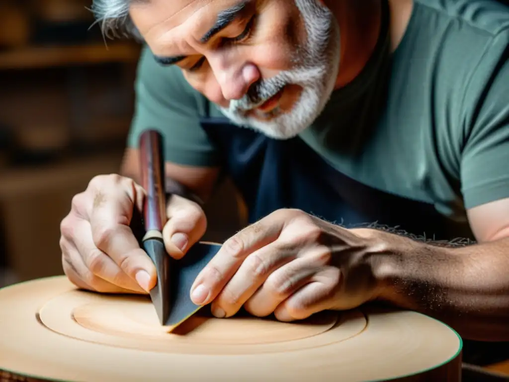
[[[162,232],[166,223],[162,135],[147,130],[140,136],[142,187],[147,192],[144,205],[145,230]]]

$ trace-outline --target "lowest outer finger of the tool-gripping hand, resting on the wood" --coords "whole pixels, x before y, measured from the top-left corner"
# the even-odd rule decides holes
[[[65,240],[62,247],[65,248],[62,256],[64,272],[78,288],[100,293],[133,293],[133,291],[123,289],[94,275],[72,243]]]

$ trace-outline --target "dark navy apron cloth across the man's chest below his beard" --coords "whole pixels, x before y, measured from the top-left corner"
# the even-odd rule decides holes
[[[346,227],[378,223],[437,240],[472,238],[464,224],[448,220],[431,204],[382,192],[336,171],[298,137],[274,140],[226,118],[201,123],[247,204],[249,223],[280,208],[298,208]]]

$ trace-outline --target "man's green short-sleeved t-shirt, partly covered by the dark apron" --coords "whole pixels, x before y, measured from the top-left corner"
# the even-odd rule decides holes
[[[509,8],[494,0],[415,0],[390,60],[374,58],[300,138],[343,174],[384,192],[465,209],[509,197]],[[166,159],[215,166],[208,100],[145,48],[128,144],[157,128]],[[210,104],[212,116],[222,116]]]

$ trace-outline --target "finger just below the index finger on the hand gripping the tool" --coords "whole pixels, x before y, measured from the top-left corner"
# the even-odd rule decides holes
[[[136,281],[132,280],[115,261],[95,246],[89,222],[78,220],[75,226],[77,234],[74,237],[74,244],[84,264],[95,276],[124,290],[138,293],[150,291],[149,275],[143,277],[138,273]]]

